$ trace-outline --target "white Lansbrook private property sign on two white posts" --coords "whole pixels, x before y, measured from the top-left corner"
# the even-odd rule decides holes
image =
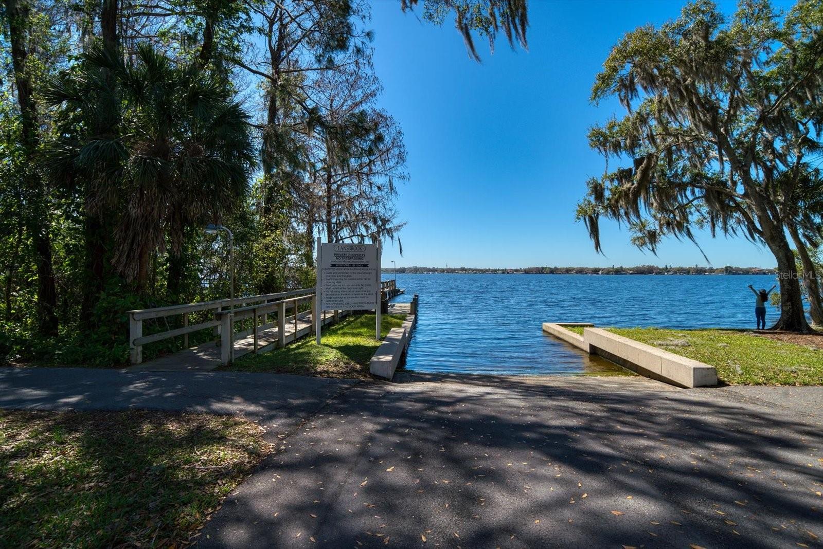
[[[380,339],[380,247],[378,244],[323,243],[318,238],[317,301],[320,311],[374,309]],[[317,321],[320,342],[321,321]]]

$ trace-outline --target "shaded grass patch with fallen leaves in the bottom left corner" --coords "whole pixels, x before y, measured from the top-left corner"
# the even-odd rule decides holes
[[[0,411],[0,545],[184,547],[267,454],[239,418]]]

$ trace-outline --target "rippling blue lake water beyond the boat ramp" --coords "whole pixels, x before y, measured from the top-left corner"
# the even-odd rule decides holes
[[[384,274],[384,279],[393,275]],[[770,275],[398,274],[420,296],[407,369],[545,375],[613,369],[544,334],[549,321],[598,326],[754,328],[755,297]],[[766,321],[776,321],[770,307]]]

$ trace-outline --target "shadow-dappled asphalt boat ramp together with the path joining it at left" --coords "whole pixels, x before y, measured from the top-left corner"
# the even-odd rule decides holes
[[[300,414],[202,547],[823,547],[823,419],[779,398],[640,377],[245,376],[0,371],[0,406],[105,394],[277,430]]]

